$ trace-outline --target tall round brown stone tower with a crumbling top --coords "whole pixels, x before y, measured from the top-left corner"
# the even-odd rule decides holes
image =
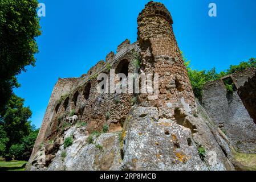
[[[156,100],[141,95],[142,105],[157,106],[164,118],[173,118],[174,110],[191,114],[195,98],[188,72],[173,33],[173,20],[162,3],[149,2],[137,18],[141,49],[141,72],[159,74]]]

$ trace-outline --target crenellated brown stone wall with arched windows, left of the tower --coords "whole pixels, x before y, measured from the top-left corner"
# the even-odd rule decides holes
[[[137,44],[121,44],[118,52],[111,53],[111,59],[99,61],[87,74],[80,78],[59,79],[56,83],[46,114],[43,119],[34,152],[39,149],[41,143],[54,140],[66,129],[66,117],[72,110],[79,117],[79,122],[86,122],[88,131],[101,131],[107,123],[109,131],[121,130],[123,121],[130,108],[133,94],[104,94],[97,90],[97,76],[106,73],[109,77],[109,69],[117,69],[124,63],[128,63],[128,72],[137,72],[133,61],[137,59],[134,51],[139,51]],[[109,113],[109,118],[106,114]]]

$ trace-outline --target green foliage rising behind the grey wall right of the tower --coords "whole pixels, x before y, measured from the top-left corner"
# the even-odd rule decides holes
[[[221,77],[233,74],[237,71],[242,71],[243,69],[246,69],[246,68],[251,68],[251,67],[256,68],[256,59],[251,58],[247,62],[242,61],[238,65],[230,65],[229,69],[222,71],[220,73],[216,72],[216,68],[210,69],[209,71],[206,71],[206,70],[198,71],[190,67],[190,60],[186,59],[182,52],[181,52],[181,55],[183,57],[186,69],[188,70],[188,76],[192,85],[194,95],[200,101],[202,99],[202,88],[204,87],[206,82],[218,80]],[[226,85],[227,92],[233,92],[234,85],[232,84],[225,84],[225,85]]]

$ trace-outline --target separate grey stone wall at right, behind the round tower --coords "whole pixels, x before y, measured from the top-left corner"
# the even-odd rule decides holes
[[[237,89],[252,77],[255,69],[234,73],[204,86],[202,104],[210,117],[226,133],[231,144],[239,152],[256,152],[256,125],[248,114],[237,91],[228,93],[224,79],[231,77]]]

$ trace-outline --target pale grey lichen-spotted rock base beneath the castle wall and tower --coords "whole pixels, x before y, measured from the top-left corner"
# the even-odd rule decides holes
[[[74,126],[65,131],[48,167],[42,161],[47,161],[46,151],[53,148],[52,144],[38,152],[38,163],[32,163],[30,169],[233,170],[225,135],[200,105],[197,114],[197,117],[181,114],[183,121],[177,122],[159,118],[157,107],[135,106],[120,132],[89,135],[86,126]],[[64,148],[63,141],[70,136],[73,143]],[[88,142],[90,137],[92,140]]]

